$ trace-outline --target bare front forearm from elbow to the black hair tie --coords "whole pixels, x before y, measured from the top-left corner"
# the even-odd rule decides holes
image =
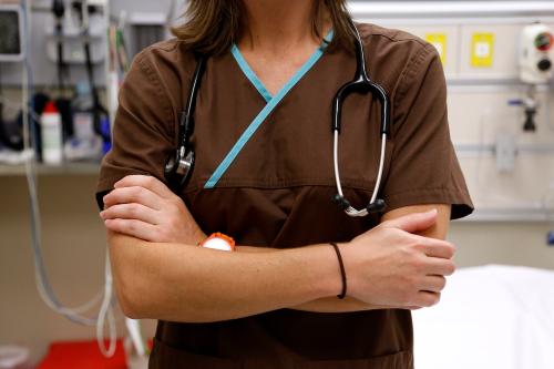
[[[109,234],[120,303],[133,318],[207,322],[261,314],[340,290],[326,245],[225,253]]]

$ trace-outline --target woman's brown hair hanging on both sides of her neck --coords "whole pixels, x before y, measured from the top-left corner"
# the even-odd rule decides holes
[[[321,24],[326,9],[334,27],[334,38],[328,50],[332,51],[338,47],[351,49],[352,32],[346,0],[316,0],[314,34],[318,39],[324,37]],[[243,0],[189,0],[184,14],[186,21],[172,28],[172,32],[195,52],[217,55],[227,52],[238,41],[246,27],[245,14]]]

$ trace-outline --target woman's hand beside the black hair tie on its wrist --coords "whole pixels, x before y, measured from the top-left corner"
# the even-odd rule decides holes
[[[445,277],[455,270],[455,247],[416,235],[435,222],[435,211],[410,214],[339,245],[348,295],[371,305],[407,309],[438,304]]]

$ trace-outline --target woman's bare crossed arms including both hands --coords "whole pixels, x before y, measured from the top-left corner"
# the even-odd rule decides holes
[[[152,177],[120,181],[104,203],[120,303],[135,318],[214,321],[278,308],[413,309],[437,304],[444,276],[453,273],[453,246],[440,242],[447,205],[390,212],[379,229],[340,245],[350,294],[339,300],[339,267],[329,245],[239,246],[233,254],[196,247],[205,235],[183,202]],[[421,214],[430,208],[438,213]]]

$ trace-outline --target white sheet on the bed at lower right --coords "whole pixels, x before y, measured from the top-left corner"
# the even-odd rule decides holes
[[[417,369],[554,369],[554,271],[459,270],[413,325]]]

